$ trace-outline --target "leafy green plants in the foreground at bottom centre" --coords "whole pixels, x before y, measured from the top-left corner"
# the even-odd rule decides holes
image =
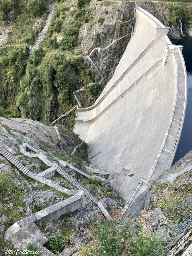
[[[119,225],[118,215],[114,220],[99,220],[92,222],[87,231],[90,242],[82,247],[81,256],[162,256],[163,246],[159,239],[149,235],[141,223]]]

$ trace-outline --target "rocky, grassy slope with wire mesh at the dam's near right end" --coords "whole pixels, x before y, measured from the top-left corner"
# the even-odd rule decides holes
[[[191,229],[186,231],[191,225],[190,220],[188,221],[190,215],[187,213],[191,209],[191,172],[192,151],[151,183],[144,193],[135,198],[129,210],[136,219],[140,218],[140,214],[143,215],[143,210],[147,216],[149,232],[163,240],[174,241],[177,235],[187,232],[186,237],[180,239],[178,246],[169,255],[182,255],[191,243],[187,242],[190,241],[187,237]]]

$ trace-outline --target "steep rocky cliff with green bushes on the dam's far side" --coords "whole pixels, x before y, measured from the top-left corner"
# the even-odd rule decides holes
[[[138,4],[170,27],[171,38],[180,37],[180,19],[186,24],[184,31],[190,30],[191,8],[188,4]],[[92,105],[113,76],[129,42],[135,22],[134,7],[135,3],[127,1],[60,1],[52,11],[51,21],[45,22],[46,16],[26,21],[31,25],[35,23],[33,34],[29,33],[33,38],[43,24],[48,28],[41,43],[37,37],[39,49],[33,52],[27,66],[29,43],[23,44],[16,27],[20,13],[15,12],[7,39],[10,46],[1,47],[1,115],[30,117],[50,123],[77,104],[73,92],[96,82],[96,85],[76,93],[82,106]],[[23,24],[26,32],[30,30],[26,28],[27,24]],[[22,27],[21,22],[19,25]],[[22,43],[21,51],[17,49],[18,42]],[[37,45],[36,41],[34,45]],[[91,52],[92,61],[104,77],[99,85],[101,76],[86,58]],[[11,55],[15,57],[10,59]],[[64,123],[72,127],[73,116]]]

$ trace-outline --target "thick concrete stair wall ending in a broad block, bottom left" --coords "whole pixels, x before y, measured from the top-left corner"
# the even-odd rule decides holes
[[[76,209],[84,206],[84,193],[78,191],[78,194],[70,198],[15,222],[6,230],[5,239],[11,240],[16,248],[24,248],[29,242],[41,248],[48,239],[35,225],[36,222],[55,220],[66,212],[74,212]],[[35,234],[35,236],[33,236],[33,234]],[[47,248],[44,247],[43,249],[44,255],[53,255]]]

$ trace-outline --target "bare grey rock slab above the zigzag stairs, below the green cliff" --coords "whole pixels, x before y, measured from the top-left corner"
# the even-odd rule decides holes
[[[2,146],[10,146],[16,152],[19,141],[20,144],[27,142],[45,151],[60,153],[57,133],[52,126],[30,119],[6,119],[4,117],[0,117],[0,123],[5,127],[0,128],[0,144]],[[73,148],[81,143],[79,137],[66,128],[61,127],[60,133],[63,148],[67,153],[73,152]]]

